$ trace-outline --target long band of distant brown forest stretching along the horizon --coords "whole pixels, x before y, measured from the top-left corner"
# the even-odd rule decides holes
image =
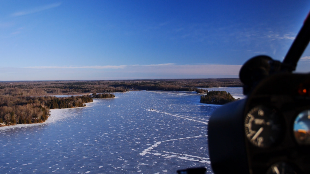
[[[116,93],[129,90],[196,91],[208,87],[242,87],[231,79],[155,79],[155,80],[71,80],[71,81],[2,81],[0,95],[42,96],[57,94]]]

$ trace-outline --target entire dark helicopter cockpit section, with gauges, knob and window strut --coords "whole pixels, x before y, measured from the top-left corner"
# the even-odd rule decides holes
[[[214,173],[310,173],[310,74],[292,73],[309,41],[307,17],[283,62],[261,55],[243,65],[247,98],[219,107],[209,121]],[[194,171],[178,173],[205,173]]]

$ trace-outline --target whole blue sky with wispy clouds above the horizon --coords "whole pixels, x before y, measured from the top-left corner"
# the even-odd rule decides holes
[[[310,1],[0,1],[0,80],[238,77],[282,60]],[[297,71],[309,72],[310,50]]]

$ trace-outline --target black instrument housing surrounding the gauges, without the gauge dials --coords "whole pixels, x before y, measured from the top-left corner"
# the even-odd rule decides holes
[[[217,109],[209,121],[209,150],[213,171],[220,173],[266,173],[277,162],[290,164],[298,173],[310,173],[310,145],[299,145],[294,120],[310,109],[310,74],[278,73],[263,79],[243,100]],[[275,108],[283,120],[282,137],[270,148],[259,148],[245,136],[244,120],[251,108]]]

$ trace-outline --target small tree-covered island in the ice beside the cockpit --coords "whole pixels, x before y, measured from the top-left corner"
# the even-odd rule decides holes
[[[238,98],[240,99],[240,98]],[[237,99],[237,100],[238,100]],[[228,102],[233,102],[236,99],[226,91],[209,91],[206,95],[200,97],[201,103],[223,105]]]

